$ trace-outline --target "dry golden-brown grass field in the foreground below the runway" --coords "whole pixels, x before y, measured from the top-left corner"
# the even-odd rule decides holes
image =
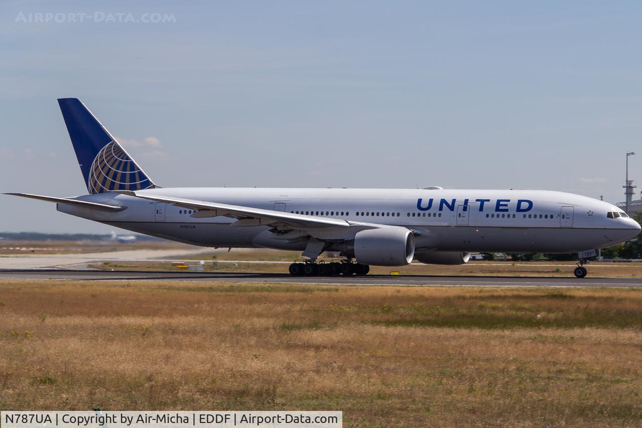
[[[0,282],[2,409],[642,426],[642,290]]]

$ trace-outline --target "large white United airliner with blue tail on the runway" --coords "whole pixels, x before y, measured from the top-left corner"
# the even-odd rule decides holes
[[[73,216],[211,247],[302,251],[292,275],[365,275],[417,259],[463,264],[471,252],[578,252],[576,277],[640,225],[618,207],[556,191],[160,187],[76,98],[58,99],[89,194],[54,198]],[[341,262],[322,263],[324,252]]]

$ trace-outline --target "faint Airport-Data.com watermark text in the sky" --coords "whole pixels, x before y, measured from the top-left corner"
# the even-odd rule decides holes
[[[94,22],[96,24],[168,24],[176,22],[173,13],[128,12],[18,12],[14,22],[22,24],[67,24]]]

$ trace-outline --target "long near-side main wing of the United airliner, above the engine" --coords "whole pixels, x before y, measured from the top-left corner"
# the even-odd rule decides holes
[[[119,193],[137,198],[148,199],[157,202],[166,202],[177,207],[196,210],[192,217],[205,218],[226,216],[238,219],[232,225],[236,226],[261,226],[261,225],[288,225],[293,228],[308,229],[320,227],[350,227],[360,225],[343,219],[326,218],[319,216],[306,216],[304,214],[293,214],[275,210],[265,210],[241,205],[228,205],[227,203],[198,201],[186,198],[175,198],[173,196],[150,195],[134,191],[119,191]]]

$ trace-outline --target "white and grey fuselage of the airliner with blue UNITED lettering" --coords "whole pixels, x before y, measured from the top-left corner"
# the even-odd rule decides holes
[[[137,193],[402,226],[415,233],[415,247],[424,251],[571,253],[612,246],[640,230],[633,219],[607,217],[608,212],[622,212],[614,205],[556,191],[195,187]],[[59,204],[58,210],[184,243],[304,250],[307,242],[271,239],[268,226],[238,225],[225,216],[195,218],[193,210],[125,194],[76,199],[126,209],[103,212]]]

